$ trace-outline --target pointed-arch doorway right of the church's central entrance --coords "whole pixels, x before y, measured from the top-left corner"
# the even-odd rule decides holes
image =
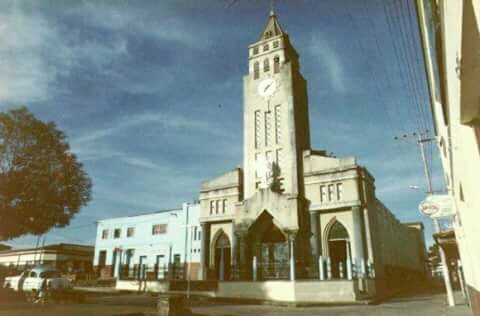
[[[347,258],[350,258],[350,239],[347,229],[338,221],[333,223],[328,233],[328,255],[332,263],[332,277],[341,277],[340,265],[345,277]]]

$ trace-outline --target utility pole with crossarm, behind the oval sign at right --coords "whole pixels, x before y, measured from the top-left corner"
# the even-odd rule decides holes
[[[412,135],[404,134],[401,137],[395,136],[395,140],[403,139],[407,140],[411,137],[415,137],[418,145],[420,146],[420,155],[422,157],[423,162],[423,169],[425,172],[425,179],[427,181],[427,196],[433,195],[433,187],[432,187],[432,178],[430,175],[430,171],[428,169],[427,159],[425,157],[425,143],[436,141],[435,137],[427,137],[428,130],[426,131],[425,135],[423,133],[412,133]],[[438,223],[438,218],[432,217],[433,227],[436,234],[440,233],[440,224]],[[447,291],[447,301],[449,306],[455,306],[455,300],[453,297],[453,290],[452,290],[452,283],[450,280],[450,273],[448,271],[448,263],[447,258],[445,256],[445,251],[443,247],[439,244],[438,245],[438,252],[440,255],[440,261],[442,264],[442,274],[443,274],[443,281],[445,283],[445,290]]]

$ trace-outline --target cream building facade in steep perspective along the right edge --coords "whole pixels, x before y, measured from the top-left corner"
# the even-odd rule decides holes
[[[480,2],[417,0],[445,182],[471,306],[480,315]]]

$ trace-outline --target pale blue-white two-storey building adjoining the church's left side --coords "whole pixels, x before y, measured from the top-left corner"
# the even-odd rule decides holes
[[[98,221],[94,268],[101,278],[183,278],[200,265],[198,204]],[[188,264],[190,263],[190,264]]]

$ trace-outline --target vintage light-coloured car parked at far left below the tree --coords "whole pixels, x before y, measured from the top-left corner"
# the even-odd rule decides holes
[[[35,267],[23,271],[20,275],[6,277],[4,288],[14,291],[38,292],[42,286],[47,290],[66,290],[72,288],[72,282],[51,267]]]

